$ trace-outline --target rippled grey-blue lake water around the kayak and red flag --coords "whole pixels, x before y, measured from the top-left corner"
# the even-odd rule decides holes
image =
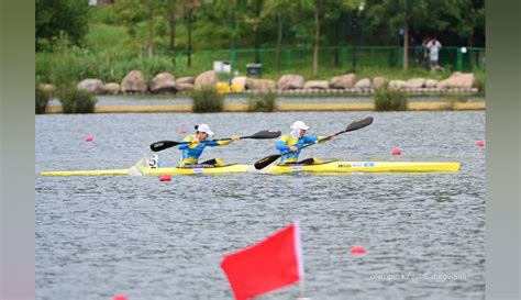
[[[208,122],[217,137],[265,129],[359,131],[302,158],[461,162],[455,174],[36,177],[36,298],[233,299],[220,260],[299,220],[312,299],[485,298],[485,112],[302,112],[36,116],[42,170],[128,168],[148,145]],[[85,142],[91,135],[93,142]],[[207,148],[253,163],[274,141]],[[403,154],[391,156],[392,147]],[[175,165],[178,151],[163,152]],[[353,245],[367,254],[351,255]],[[259,299],[295,299],[298,287]]]

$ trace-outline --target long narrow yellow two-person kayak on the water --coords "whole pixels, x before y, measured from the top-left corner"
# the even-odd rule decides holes
[[[328,162],[317,165],[271,165],[262,170],[256,170],[252,165],[226,165],[222,167],[197,168],[130,168],[108,170],[66,170],[42,171],[41,176],[115,176],[115,175],[193,175],[193,174],[232,174],[232,173],[259,173],[259,174],[288,174],[288,173],[436,173],[458,171],[459,163],[423,163],[423,162]]]

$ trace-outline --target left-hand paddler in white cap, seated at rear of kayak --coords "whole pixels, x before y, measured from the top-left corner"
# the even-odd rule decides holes
[[[224,166],[224,163],[220,158],[212,158],[199,164],[199,157],[207,146],[225,146],[233,141],[239,141],[241,137],[233,135],[229,141],[212,141],[209,140],[213,135],[212,130],[208,124],[196,125],[196,134],[187,135],[185,142],[190,142],[189,144],[179,145],[181,151],[181,157],[179,160],[179,167],[190,167],[193,165],[210,165],[214,167]]]

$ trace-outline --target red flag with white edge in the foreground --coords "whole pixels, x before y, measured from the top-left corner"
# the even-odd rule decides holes
[[[301,254],[295,222],[258,244],[226,255],[221,267],[235,299],[245,300],[302,279]]]

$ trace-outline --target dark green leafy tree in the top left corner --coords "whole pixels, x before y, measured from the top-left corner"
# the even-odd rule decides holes
[[[36,51],[53,44],[65,33],[79,45],[88,31],[88,2],[82,0],[36,0]]]

